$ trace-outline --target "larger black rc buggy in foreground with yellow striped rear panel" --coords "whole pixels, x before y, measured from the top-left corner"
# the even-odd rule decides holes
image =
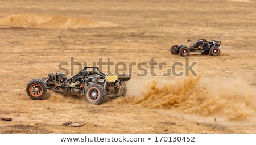
[[[47,89],[54,92],[77,93],[85,96],[91,104],[100,105],[106,97],[125,96],[127,81],[131,75],[104,74],[98,67],[84,67],[70,79],[61,73],[49,73],[47,78],[32,79],[26,91],[31,99],[40,100],[46,95]]]

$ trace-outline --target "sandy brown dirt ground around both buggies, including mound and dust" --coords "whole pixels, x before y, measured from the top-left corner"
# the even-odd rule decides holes
[[[0,2],[0,117],[12,118],[0,133],[256,133],[255,1]],[[191,53],[186,64],[170,53],[200,38],[221,41],[220,56]],[[100,59],[114,62],[111,72],[135,64],[120,71],[133,75],[126,97],[91,105],[83,96],[26,94],[31,79],[64,70],[69,78],[77,64]],[[163,76],[175,62],[183,75]],[[197,76],[186,76],[193,63]],[[62,126],[68,121],[83,126]]]

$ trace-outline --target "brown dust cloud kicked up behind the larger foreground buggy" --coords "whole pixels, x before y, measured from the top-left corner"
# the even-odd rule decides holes
[[[234,122],[256,120],[256,96],[243,79],[211,80],[204,75],[168,80],[129,82],[129,93],[117,103],[141,104],[152,109],[172,109],[181,114],[195,114]],[[143,87],[144,84],[147,87]],[[161,85],[162,83],[162,85]],[[143,87],[143,88],[142,88]]]

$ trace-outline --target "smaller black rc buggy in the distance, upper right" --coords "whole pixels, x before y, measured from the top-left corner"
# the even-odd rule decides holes
[[[178,45],[173,45],[170,48],[172,54],[179,54],[183,57],[188,56],[190,52],[200,52],[201,54],[207,55],[210,53],[212,56],[218,56],[220,54],[221,41],[206,39],[199,39],[195,43],[191,44],[189,47],[185,43]]]

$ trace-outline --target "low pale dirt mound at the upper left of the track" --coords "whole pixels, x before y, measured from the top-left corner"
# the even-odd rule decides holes
[[[112,22],[98,22],[86,18],[72,18],[67,16],[53,16],[45,14],[18,14],[0,19],[0,25],[7,27],[35,27],[35,28],[87,28],[87,27],[115,27]]]

